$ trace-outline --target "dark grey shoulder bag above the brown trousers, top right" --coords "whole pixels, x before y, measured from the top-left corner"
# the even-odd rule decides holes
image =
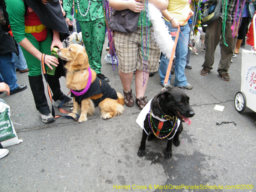
[[[208,0],[204,3],[204,9],[202,10],[204,25],[209,25],[220,17],[221,6],[222,0]]]

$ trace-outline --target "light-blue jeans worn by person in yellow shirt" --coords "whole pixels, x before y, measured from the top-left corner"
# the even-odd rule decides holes
[[[170,22],[165,21],[165,25],[168,26],[168,30],[170,32],[177,32],[178,29],[177,28],[172,28],[172,25]],[[184,37],[186,38],[186,40],[189,40],[189,32],[190,32],[190,28],[187,25],[185,26],[181,26],[180,27],[180,32],[182,32],[182,34],[184,35]],[[180,38],[182,39],[182,42],[180,40],[180,38],[178,39],[177,42],[177,46],[176,46],[176,61],[175,61],[175,80],[174,80],[174,86],[184,86],[186,87],[188,85],[187,82],[187,78],[185,76],[185,67],[186,67],[186,57],[187,57],[187,53],[188,53],[188,42],[185,40],[185,38],[183,37],[181,33],[179,34]],[[172,36],[172,39],[175,40],[175,36]],[[160,75],[160,82],[161,84],[164,84],[164,79],[165,79],[165,75],[166,75],[166,71],[168,68],[168,64],[169,64],[169,59],[165,58],[165,55],[163,54],[162,58],[161,58],[161,62],[159,65],[159,75]],[[170,73],[169,75],[169,79],[168,79],[168,84],[170,84],[170,80],[172,78],[172,75]]]

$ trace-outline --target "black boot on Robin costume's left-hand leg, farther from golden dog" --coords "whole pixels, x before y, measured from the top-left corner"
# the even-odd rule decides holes
[[[36,109],[43,115],[51,113],[44,93],[43,76],[28,76],[29,84],[36,104]]]

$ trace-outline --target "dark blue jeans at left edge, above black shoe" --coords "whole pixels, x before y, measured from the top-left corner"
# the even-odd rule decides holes
[[[19,87],[11,52],[0,54],[0,82],[9,85],[10,93]]]

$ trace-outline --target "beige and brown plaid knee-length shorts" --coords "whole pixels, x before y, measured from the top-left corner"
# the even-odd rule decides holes
[[[146,28],[143,30],[143,39],[146,39]],[[123,73],[132,73],[134,69],[148,72],[156,72],[159,67],[160,48],[154,44],[151,39],[150,29],[149,37],[149,56],[144,61],[141,52],[140,28],[137,28],[133,33],[122,33],[115,31],[115,48],[118,55],[119,70]],[[144,54],[146,57],[146,44],[144,40]],[[147,63],[147,65],[146,65]]]

